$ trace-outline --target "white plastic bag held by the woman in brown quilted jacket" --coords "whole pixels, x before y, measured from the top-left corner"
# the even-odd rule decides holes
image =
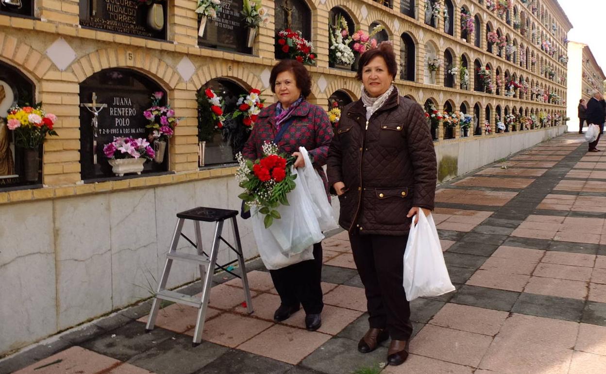
[[[419,222],[415,225],[415,218]],[[404,252],[404,291],[408,301],[454,291],[431,214],[413,217]]]

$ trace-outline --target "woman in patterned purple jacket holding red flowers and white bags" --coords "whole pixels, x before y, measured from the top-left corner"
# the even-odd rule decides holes
[[[333,130],[326,112],[318,105],[305,101],[311,93],[311,76],[301,62],[286,59],[271,70],[270,85],[271,92],[275,93],[278,101],[261,110],[242,155],[253,160],[261,158],[262,145],[273,142],[286,126],[284,135],[277,143],[280,152],[296,156],[295,167],[302,167],[305,162],[298,150],[299,147],[305,147],[324,181],[327,198],[330,199],[328,180],[322,166],[326,164]],[[320,287],[321,243],[313,245],[313,258],[282,269],[270,270],[281,300],[280,307],[274,314],[276,321],[289,318],[302,305],[307,330],[314,331],[321,326],[320,313],[324,307]]]

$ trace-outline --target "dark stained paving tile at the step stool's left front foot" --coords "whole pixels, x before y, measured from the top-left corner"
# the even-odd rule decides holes
[[[159,327],[145,333],[145,324],[133,321],[119,329],[84,342],[81,346],[120,361],[128,361],[133,356],[158,346],[166,339],[176,338],[178,335],[178,333]]]

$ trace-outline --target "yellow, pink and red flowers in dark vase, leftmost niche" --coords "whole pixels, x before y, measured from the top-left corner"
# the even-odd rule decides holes
[[[12,107],[8,110],[7,127],[15,132],[15,145],[38,149],[47,135],[58,135],[53,126],[57,116],[44,112],[42,103],[36,107]]]

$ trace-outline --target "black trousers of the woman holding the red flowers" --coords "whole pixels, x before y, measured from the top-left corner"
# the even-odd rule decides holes
[[[287,306],[302,304],[305,314],[322,312],[322,244],[313,245],[313,259],[270,270],[280,301]]]

